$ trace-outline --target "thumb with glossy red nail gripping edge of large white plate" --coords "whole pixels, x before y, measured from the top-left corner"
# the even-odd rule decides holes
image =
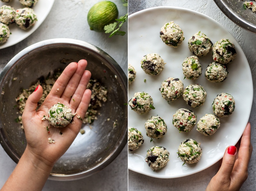
[[[236,162],[237,149],[235,146],[229,146],[223,156],[222,164],[220,170],[218,171],[218,176],[223,179],[230,180],[230,175],[232,173],[233,167]]]

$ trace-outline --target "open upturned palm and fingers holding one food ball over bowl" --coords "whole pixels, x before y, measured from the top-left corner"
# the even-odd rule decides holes
[[[74,123],[68,124],[66,127],[51,126],[49,128],[50,134],[48,134],[46,126],[49,127],[49,121],[42,121],[42,118],[48,114],[49,109],[54,104],[60,102],[71,108],[72,114],[77,113],[82,120],[84,119],[91,100],[91,91],[86,89],[91,73],[85,70],[86,66],[87,61],[85,60],[70,63],[57,79],[51,92],[37,111],[37,102],[43,94],[42,86],[38,85],[26,102],[22,114],[28,143],[26,150],[48,166],[53,166],[68,150],[81,129],[82,121],[75,116],[73,118]],[[59,131],[62,132],[63,136],[60,135]],[[56,143],[48,143],[49,137],[55,140]]]

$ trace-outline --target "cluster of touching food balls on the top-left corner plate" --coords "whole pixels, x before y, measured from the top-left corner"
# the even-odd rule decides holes
[[[9,3],[12,0],[1,0]],[[34,26],[37,17],[35,11],[32,9],[38,0],[19,0],[20,4],[25,8],[15,10],[12,6],[3,5],[0,7],[0,44],[5,43],[10,36],[9,25],[16,23],[22,30],[27,30]]]

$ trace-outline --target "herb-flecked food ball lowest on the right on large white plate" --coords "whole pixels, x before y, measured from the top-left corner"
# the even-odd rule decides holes
[[[178,155],[180,159],[185,163],[197,163],[202,156],[202,149],[200,148],[201,143],[197,143],[193,139],[187,139],[182,142],[178,149]]]

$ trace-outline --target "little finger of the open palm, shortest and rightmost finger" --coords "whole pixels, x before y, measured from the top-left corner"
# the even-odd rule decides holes
[[[78,115],[80,115],[82,120],[84,119],[84,116],[85,116],[88,106],[90,104],[91,96],[92,96],[91,90],[89,90],[89,89],[85,90],[83,97],[81,99],[81,102],[76,109],[76,113]]]

